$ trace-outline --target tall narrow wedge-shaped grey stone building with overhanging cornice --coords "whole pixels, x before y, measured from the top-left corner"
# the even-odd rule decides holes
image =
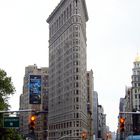
[[[49,23],[49,140],[88,131],[85,0],[61,0]]]

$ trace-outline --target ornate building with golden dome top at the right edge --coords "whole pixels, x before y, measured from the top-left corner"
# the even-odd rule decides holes
[[[125,118],[124,131],[121,131],[120,123],[118,121],[118,138],[124,139],[129,135],[140,134],[140,116],[134,114],[140,111],[140,56],[137,56],[133,62],[134,67],[132,69],[132,81],[131,87],[126,87],[125,97],[120,99],[119,117]],[[132,112],[132,113],[131,113]],[[133,113],[134,112],[134,113]],[[119,120],[119,119],[118,119]]]

